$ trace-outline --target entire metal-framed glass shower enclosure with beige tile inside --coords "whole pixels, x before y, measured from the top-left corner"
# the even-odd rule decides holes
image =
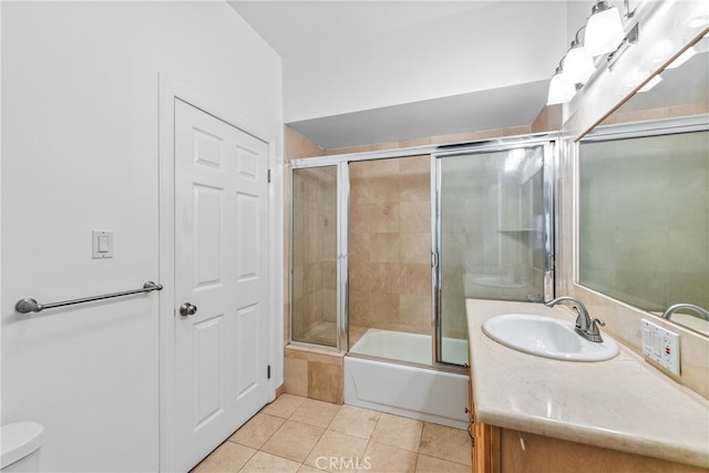
[[[537,135],[294,161],[291,341],[463,372],[465,299],[553,297],[554,156]]]

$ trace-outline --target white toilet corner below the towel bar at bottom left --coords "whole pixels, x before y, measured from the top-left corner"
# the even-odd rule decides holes
[[[0,428],[2,457],[0,470],[33,472],[40,470],[40,448],[44,443],[44,426],[35,422],[17,422]]]

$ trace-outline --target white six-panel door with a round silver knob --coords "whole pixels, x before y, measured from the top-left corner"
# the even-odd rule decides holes
[[[268,146],[175,100],[175,466],[268,401]]]

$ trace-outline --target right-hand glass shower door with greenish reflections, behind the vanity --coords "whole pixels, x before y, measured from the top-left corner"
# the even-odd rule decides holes
[[[553,290],[552,150],[545,142],[435,155],[439,361],[467,360],[465,299],[543,301],[545,285]]]

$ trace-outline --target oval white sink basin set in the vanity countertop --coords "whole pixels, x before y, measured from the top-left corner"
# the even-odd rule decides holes
[[[600,343],[582,338],[574,323],[528,313],[505,313],[483,323],[483,332],[505,347],[568,361],[603,361],[618,354],[618,345],[607,337]]]

